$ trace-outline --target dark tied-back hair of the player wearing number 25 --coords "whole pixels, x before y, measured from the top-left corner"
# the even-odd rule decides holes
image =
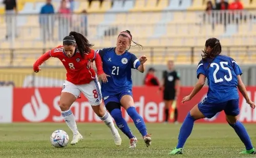
[[[212,50],[210,52],[206,51],[206,48],[210,47]],[[202,50],[203,54],[202,60],[207,61],[210,59],[211,61],[214,60],[214,58],[221,54],[221,43],[220,40],[217,38],[209,38],[205,42],[205,49]]]

